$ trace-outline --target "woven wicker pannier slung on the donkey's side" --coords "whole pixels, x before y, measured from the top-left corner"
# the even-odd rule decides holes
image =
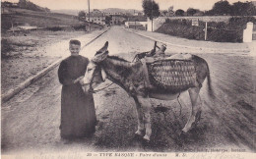
[[[151,84],[158,88],[179,92],[195,86],[196,70],[191,60],[163,59],[147,67]]]

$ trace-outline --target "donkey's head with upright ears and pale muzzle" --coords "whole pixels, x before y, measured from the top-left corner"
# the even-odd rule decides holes
[[[84,78],[84,88],[86,92],[94,92],[93,87],[95,87],[100,82],[104,81],[106,74],[100,67],[100,62],[102,62],[108,55],[107,51],[108,41],[105,42],[104,46],[96,52],[96,55],[87,67],[87,72]],[[95,84],[95,85],[93,85]]]

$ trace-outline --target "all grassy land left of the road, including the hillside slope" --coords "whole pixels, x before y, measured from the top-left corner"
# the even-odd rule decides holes
[[[90,33],[74,16],[35,12],[25,9],[5,9],[1,14],[1,93],[4,94],[25,79],[32,77],[61,58],[47,47],[62,40]],[[35,26],[36,30],[7,31],[10,27]],[[68,29],[52,29],[62,28]],[[94,31],[100,26],[93,25]],[[59,47],[59,46],[57,46]],[[58,50],[58,49],[57,49]]]

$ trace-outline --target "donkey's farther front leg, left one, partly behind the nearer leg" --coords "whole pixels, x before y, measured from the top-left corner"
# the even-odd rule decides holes
[[[144,123],[143,123],[143,110],[142,110],[142,106],[138,101],[138,98],[135,96],[133,97],[135,104],[136,104],[136,110],[137,110],[137,115],[138,115],[138,130],[137,132],[135,132],[138,135],[143,135],[143,131],[144,131]]]

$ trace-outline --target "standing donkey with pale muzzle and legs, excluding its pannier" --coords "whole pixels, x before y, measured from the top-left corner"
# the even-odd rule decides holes
[[[158,85],[146,84],[146,77],[143,69],[143,64],[140,61],[128,62],[116,56],[108,56],[108,42],[96,52],[95,57],[90,61],[83,86],[86,92],[93,91],[93,79],[95,74],[101,70],[103,79],[110,79],[112,82],[121,86],[131,97],[133,97],[138,115],[138,130],[135,132],[143,136],[147,141],[150,141],[152,134],[151,129],[151,103],[149,98],[160,100],[173,100],[180,92],[188,90],[192,112],[188,122],[182,129],[182,132],[188,132],[199,121],[201,115],[201,103],[197,102],[200,88],[203,81],[208,79],[209,92],[212,94],[210,72],[207,62],[195,55],[192,55],[191,62],[195,68],[194,84],[187,84],[185,87],[177,89],[161,88]],[[97,72],[97,73],[96,73]]]

